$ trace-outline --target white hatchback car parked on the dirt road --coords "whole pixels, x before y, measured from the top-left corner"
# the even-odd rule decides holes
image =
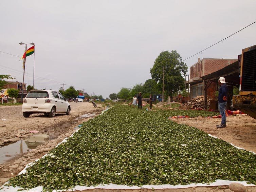
[[[53,90],[32,90],[26,95],[22,104],[24,117],[33,113],[44,113],[54,117],[56,113],[70,114],[70,104],[65,97]]]

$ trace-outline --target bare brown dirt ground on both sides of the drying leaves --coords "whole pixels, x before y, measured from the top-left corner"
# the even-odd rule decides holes
[[[43,114],[33,114],[29,118],[24,118],[21,113],[21,106],[9,106],[0,107],[0,144],[12,142],[12,139],[21,139],[33,135],[30,131],[38,131],[39,133],[47,133],[50,135],[50,144],[38,146],[36,149],[28,151],[26,153],[17,155],[15,158],[10,159],[3,164],[0,164],[0,186],[5,183],[10,177],[16,176],[24,167],[19,166],[18,169],[12,169],[10,166],[14,165],[18,160],[24,161],[25,157],[31,157],[29,162],[33,162],[35,159],[41,158],[48,151],[43,148],[54,147],[65,137],[70,136],[74,131],[74,128],[92,117],[81,117],[81,115],[88,113],[100,114],[105,108],[98,104],[97,108],[94,108],[92,103],[80,102],[70,103],[71,113],[69,116],[65,114],[56,114],[54,118],[44,116]],[[3,120],[6,119],[6,120]],[[227,117],[227,127],[218,129],[216,124],[220,124],[221,119],[218,118],[173,118],[171,119],[177,123],[187,124],[189,126],[196,127],[206,133],[223,139],[227,142],[233,143],[235,146],[244,148],[245,150],[256,153],[256,119],[251,118],[245,114],[232,115]],[[55,142],[53,142],[55,141]],[[52,145],[53,144],[53,145]],[[50,149],[51,149],[50,148]],[[228,186],[216,186],[216,187],[191,187],[185,189],[156,189],[157,192],[224,192],[228,189]],[[152,191],[152,189],[139,189],[139,190],[107,190],[107,189],[94,189],[84,190],[90,191]],[[247,192],[256,192],[256,187],[246,187]],[[78,191],[77,191],[78,192]]]

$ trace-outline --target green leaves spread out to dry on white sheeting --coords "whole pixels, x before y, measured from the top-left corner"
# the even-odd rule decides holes
[[[185,185],[216,179],[256,184],[256,155],[167,119],[181,113],[196,117],[212,112],[147,112],[116,105],[84,122],[66,143],[50,151],[53,156],[11,178],[10,185],[42,185],[51,191],[75,185]]]

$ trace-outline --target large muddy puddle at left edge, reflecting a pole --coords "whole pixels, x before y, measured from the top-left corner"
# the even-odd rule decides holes
[[[0,164],[4,161],[15,157],[18,154],[25,153],[37,146],[42,145],[45,141],[49,141],[50,136],[47,134],[35,134],[24,140],[3,146],[0,148]]]

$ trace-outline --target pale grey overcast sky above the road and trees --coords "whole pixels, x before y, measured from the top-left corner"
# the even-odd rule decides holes
[[[162,51],[184,60],[255,22],[256,1],[8,0],[0,1],[0,18],[0,74],[22,82],[19,43],[33,42],[36,89],[64,83],[65,90],[73,85],[106,98],[150,79]],[[237,59],[255,44],[256,23],[184,62],[189,68],[199,57]],[[33,59],[26,58],[27,85]]]

